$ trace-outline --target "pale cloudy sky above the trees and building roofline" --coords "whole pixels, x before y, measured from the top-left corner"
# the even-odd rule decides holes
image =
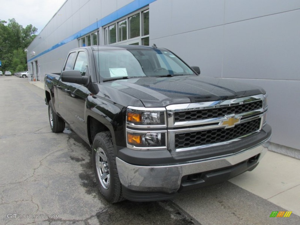
[[[0,20],[15,18],[24,28],[32,24],[39,34],[66,0],[1,0]]]

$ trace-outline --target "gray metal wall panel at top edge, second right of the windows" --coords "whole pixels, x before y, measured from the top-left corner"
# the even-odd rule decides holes
[[[172,1],[172,32],[179,34],[222,25],[225,0]],[[152,13],[152,12],[151,12]],[[155,12],[154,12],[154,15]]]

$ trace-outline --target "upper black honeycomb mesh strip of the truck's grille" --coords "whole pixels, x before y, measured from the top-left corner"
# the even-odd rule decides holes
[[[235,106],[212,109],[174,112],[174,122],[201,120],[222,117],[230,114],[241,114],[262,108],[262,101],[255,101]]]

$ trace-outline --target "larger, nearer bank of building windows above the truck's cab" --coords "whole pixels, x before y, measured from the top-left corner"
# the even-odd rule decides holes
[[[149,9],[144,8],[104,29],[104,44],[139,44],[149,46]]]

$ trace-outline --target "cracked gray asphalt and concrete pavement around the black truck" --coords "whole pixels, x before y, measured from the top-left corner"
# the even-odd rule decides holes
[[[300,223],[300,161],[273,152],[253,172],[172,201],[110,204],[96,186],[89,146],[68,127],[51,132],[44,90],[2,76],[0,91],[0,224]],[[292,214],[271,218],[272,211]]]

